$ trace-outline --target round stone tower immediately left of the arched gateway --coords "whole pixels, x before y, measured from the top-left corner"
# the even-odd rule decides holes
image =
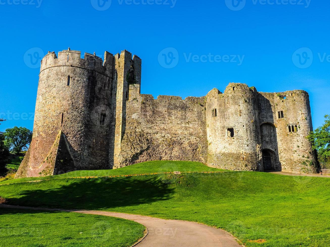
[[[255,88],[230,83],[224,94],[206,96],[208,165],[231,170],[262,171],[258,100]]]

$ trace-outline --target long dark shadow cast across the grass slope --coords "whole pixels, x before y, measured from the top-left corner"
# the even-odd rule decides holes
[[[15,185],[14,185],[15,186]],[[49,180],[17,185],[7,204],[67,209],[108,209],[169,200],[174,189],[152,177]],[[42,188],[42,189],[40,189]]]

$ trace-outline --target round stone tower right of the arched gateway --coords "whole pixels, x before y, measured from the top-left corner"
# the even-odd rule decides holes
[[[277,139],[282,171],[316,173],[312,143],[306,138],[313,131],[309,95],[303,90],[274,94]]]

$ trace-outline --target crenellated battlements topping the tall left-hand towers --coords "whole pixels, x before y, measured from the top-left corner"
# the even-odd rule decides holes
[[[126,50],[123,50],[120,54],[127,53],[132,57],[132,54]],[[70,66],[95,70],[96,72],[110,75],[112,73],[113,66],[115,64],[115,59],[120,58],[120,54],[117,53],[115,56],[110,52],[104,53],[104,59],[98,57],[94,54],[85,52],[84,58],[81,58],[81,51],[67,50],[59,51],[58,54],[53,52],[48,52],[48,54],[41,61],[40,72],[52,67],[58,66]],[[133,61],[141,60],[138,56],[133,56]]]

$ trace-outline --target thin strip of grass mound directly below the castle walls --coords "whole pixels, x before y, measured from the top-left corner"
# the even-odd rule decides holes
[[[212,167],[208,167],[199,162],[192,161],[148,161],[131,166],[122,167],[114,170],[90,170],[90,171],[74,171],[56,176],[48,176],[41,178],[18,178],[0,182],[0,184],[18,183],[25,181],[50,179],[50,178],[76,178],[76,177],[102,177],[132,174],[149,174],[163,172],[211,172],[225,171]]]

